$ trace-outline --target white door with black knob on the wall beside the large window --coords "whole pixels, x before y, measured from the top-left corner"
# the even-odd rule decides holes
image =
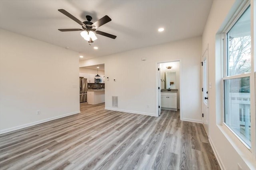
[[[208,49],[206,49],[202,56],[202,123],[206,129],[206,133],[208,133]]]

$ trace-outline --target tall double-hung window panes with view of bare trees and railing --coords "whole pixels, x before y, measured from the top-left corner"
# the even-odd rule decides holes
[[[224,124],[251,149],[251,93],[254,74],[251,61],[250,6],[226,31],[224,61]],[[253,105],[253,104],[252,104]]]

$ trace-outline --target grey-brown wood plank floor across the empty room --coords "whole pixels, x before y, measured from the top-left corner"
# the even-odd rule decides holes
[[[81,113],[0,135],[0,169],[219,170],[200,123],[81,104]]]

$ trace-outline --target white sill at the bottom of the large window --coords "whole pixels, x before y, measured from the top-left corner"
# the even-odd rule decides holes
[[[250,149],[248,149],[242,141],[240,141],[236,135],[226,127],[226,125],[217,125],[220,131],[223,133],[223,135],[226,137],[228,142],[232,145],[232,147],[236,150],[236,152],[239,154],[239,156],[242,158],[242,160],[246,163],[248,168],[250,169],[256,169],[255,161],[252,152]]]

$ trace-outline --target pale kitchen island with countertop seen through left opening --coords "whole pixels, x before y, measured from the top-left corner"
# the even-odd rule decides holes
[[[87,90],[88,104],[99,104],[105,102],[105,89],[88,89]]]

